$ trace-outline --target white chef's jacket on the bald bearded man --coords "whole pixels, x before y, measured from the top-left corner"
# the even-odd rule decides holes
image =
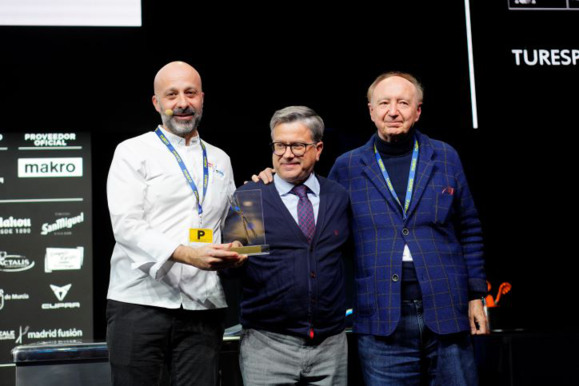
[[[166,130],[203,195],[203,153],[199,137],[189,146]],[[154,132],[118,145],[107,181],[107,197],[116,244],[111,258],[107,298],[163,308],[203,310],[226,307],[223,288],[214,271],[168,260],[179,245],[190,243],[189,229],[213,230],[221,242],[229,197],[235,191],[229,156],[203,142],[209,180],[202,200],[203,224],[197,200],[175,156]]]

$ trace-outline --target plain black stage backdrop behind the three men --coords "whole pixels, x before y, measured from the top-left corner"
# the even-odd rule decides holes
[[[573,148],[565,146],[574,143],[577,72],[517,67],[511,49],[573,48],[579,14],[509,11],[507,1],[476,2],[471,13],[478,129],[472,128],[462,2],[216,9],[144,1],[141,28],[1,27],[0,132],[92,135],[95,337],[105,334],[114,245],[108,168],[119,142],[159,122],[153,77],[173,60],[201,73],[200,133],[231,156],[238,185],[271,164],[268,123],[275,110],[307,105],[324,118],[317,171],[326,175],[337,155],[375,131],[365,99],[374,78],[389,70],[416,74],[426,90],[418,127],[462,157],[483,222],[493,292],[503,281],[513,284],[502,302],[516,311],[520,327],[570,326],[556,310],[577,293]]]

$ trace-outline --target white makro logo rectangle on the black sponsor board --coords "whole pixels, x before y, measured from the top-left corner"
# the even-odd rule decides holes
[[[18,178],[82,177],[82,158],[19,158]]]

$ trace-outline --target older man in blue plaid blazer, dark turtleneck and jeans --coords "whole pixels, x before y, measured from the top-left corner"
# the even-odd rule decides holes
[[[377,133],[329,175],[351,200],[367,385],[476,384],[468,332],[487,333],[480,221],[456,151],[414,129],[422,94],[410,74],[378,77]]]

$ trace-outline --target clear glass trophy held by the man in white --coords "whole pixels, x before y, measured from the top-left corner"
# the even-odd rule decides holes
[[[231,248],[241,255],[267,255],[261,190],[237,191],[229,201],[223,229],[223,242],[239,241],[243,247]]]

